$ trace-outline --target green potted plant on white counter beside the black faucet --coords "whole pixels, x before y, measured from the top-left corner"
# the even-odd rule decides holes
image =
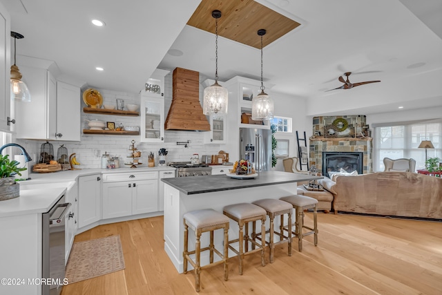
[[[21,175],[19,162],[9,160],[9,155],[0,155],[0,200],[9,200],[20,196],[20,185],[15,182],[15,175]]]

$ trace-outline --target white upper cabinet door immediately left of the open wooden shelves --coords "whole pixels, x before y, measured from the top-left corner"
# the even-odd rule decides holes
[[[57,81],[57,139],[80,141],[80,88]]]

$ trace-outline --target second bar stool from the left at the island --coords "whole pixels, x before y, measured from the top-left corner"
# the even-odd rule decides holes
[[[238,238],[235,240],[229,240],[229,248],[238,255],[240,260],[240,274],[242,275],[244,256],[248,254],[261,251],[261,265],[265,266],[265,240],[261,240],[261,244],[256,242],[256,220],[261,220],[261,235],[265,236],[265,220],[267,212],[259,206],[250,203],[231,204],[224,207],[223,213],[232,220],[238,222],[240,232]],[[253,222],[253,229],[251,236],[249,236],[249,222]],[[245,235],[243,227],[245,226]],[[231,244],[234,242],[239,243],[239,251],[236,250]],[[249,242],[251,242],[252,249],[249,251]],[[258,247],[255,249],[255,246]]]

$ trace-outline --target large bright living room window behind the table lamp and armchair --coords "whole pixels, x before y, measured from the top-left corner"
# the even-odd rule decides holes
[[[428,158],[442,158],[442,122],[397,124],[374,129],[374,171],[384,171],[383,158],[413,158],[416,169],[425,168],[425,149],[418,146],[430,140],[434,149],[428,149]]]

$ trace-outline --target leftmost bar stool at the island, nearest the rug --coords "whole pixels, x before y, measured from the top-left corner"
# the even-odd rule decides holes
[[[187,273],[187,262],[191,263],[193,268],[195,269],[195,291],[200,292],[200,273],[201,269],[206,267],[212,267],[215,265],[219,265],[221,263],[224,264],[224,280],[229,279],[229,266],[227,265],[227,259],[229,258],[229,218],[222,213],[219,213],[213,209],[202,209],[189,211],[183,216],[184,221],[184,251],[182,256],[184,258],[183,263],[183,272]],[[189,251],[189,229],[193,229],[195,231],[195,250]],[[213,246],[213,231],[215,229],[224,229],[224,255],[220,253]],[[210,231],[210,244],[209,247],[205,247],[201,249],[200,245],[200,237],[201,234]],[[210,251],[209,264],[201,266],[200,265],[200,256],[202,251]],[[222,260],[213,262],[213,252],[215,252]],[[195,262],[189,256],[191,254],[195,254]]]

